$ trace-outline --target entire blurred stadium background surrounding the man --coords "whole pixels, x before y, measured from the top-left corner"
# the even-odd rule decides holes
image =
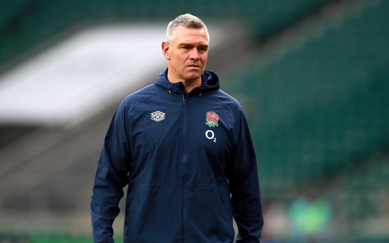
[[[386,0],[2,0],[0,242],[92,242],[109,121],[163,71],[166,26],[187,12],[209,27],[207,69],[249,121],[263,242],[389,242],[388,10]]]

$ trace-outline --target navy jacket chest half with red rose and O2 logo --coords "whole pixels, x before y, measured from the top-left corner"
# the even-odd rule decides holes
[[[234,144],[230,111],[219,102],[208,102],[200,107],[189,104],[186,113],[190,134],[186,140],[187,183],[227,187],[226,163],[230,161]]]

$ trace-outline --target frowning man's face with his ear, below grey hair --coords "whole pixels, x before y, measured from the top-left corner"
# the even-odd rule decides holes
[[[166,50],[168,57],[165,55],[169,60],[169,73],[184,80],[200,78],[207,62],[208,43],[205,29],[177,26],[172,45]]]

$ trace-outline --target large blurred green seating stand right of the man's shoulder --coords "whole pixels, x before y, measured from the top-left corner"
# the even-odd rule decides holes
[[[336,175],[387,144],[384,9],[345,19],[282,59],[254,61],[224,85],[244,101],[266,193]]]

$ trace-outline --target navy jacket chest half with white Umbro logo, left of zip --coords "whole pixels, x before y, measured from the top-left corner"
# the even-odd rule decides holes
[[[156,97],[130,116],[132,185],[182,184],[182,107]]]

